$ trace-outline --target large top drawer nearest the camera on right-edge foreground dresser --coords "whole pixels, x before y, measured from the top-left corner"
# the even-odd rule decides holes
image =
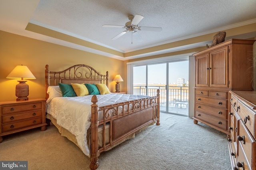
[[[241,119],[244,121],[244,124],[246,125],[247,129],[252,133],[254,136],[254,126],[255,126],[255,114],[248,109],[248,107],[244,106],[239,100],[237,103],[237,113],[241,117]]]

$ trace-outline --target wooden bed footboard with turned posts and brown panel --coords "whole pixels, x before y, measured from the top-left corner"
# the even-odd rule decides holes
[[[160,125],[159,93],[160,90],[157,90],[157,96],[155,97],[102,107],[98,107],[96,104],[98,102],[97,96],[92,96],[90,169],[95,170],[98,168],[98,156],[101,152],[109,150],[129,135],[140,131],[150,124],[156,123],[156,125]],[[122,110],[121,113],[118,113],[120,110]],[[102,111],[104,115],[100,121],[98,121],[99,111]],[[110,111],[112,114],[110,114]],[[106,123],[110,124],[110,141],[107,144],[102,143],[102,147],[98,148],[98,126],[103,125],[103,141],[105,141]]]

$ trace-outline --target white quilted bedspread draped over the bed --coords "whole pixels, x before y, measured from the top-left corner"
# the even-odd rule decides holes
[[[96,96],[98,97],[97,104],[99,107],[148,97],[116,93]],[[86,135],[91,125],[91,99],[92,95],[54,97],[46,104],[46,112],[57,120],[58,125],[76,136],[78,145],[86,155],[90,154]]]

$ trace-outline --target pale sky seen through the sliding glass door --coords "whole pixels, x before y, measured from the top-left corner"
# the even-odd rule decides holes
[[[169,63],[169,83],[176,83],[178,78],[188,81],[188,61]],[[133,83],[146,83],[146,66],[133,68]],[[148,84],[166,84],[166,63],[148,65]]]

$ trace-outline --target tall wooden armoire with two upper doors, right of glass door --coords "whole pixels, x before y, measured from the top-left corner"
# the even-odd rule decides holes
[[[194,123],[205,123],[230,135],[229,90],[252,90],[255,40],[230,39],[195,53]]]

